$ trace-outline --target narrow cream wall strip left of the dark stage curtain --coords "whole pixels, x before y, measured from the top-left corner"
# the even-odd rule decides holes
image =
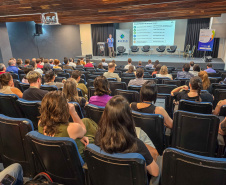
[[[93,54],[91,24],[80,24],[82,55]]]

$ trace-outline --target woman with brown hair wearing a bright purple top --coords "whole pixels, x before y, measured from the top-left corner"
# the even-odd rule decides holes
[[[105,76],[98,76],[93,82],[95,88],[95,96],[91,96],[89,103],[101,107],[105,107],[107,102],[112,98],[109,96],[111,91],[109,89],[109,83]]]

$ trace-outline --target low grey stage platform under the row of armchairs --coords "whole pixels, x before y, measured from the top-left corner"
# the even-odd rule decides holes
[[[85,56],[77,56],[77,58],[81,58]],[[183,58],[183,56],[179,55],[122,55],[117,56],[115,58],[110,58],[109,56],[93,56],[91,59],[92,62],[98,64],[101,62],[102,58],[105,58],[106,62],[110,62],[112,60],[115,60],[117,65],[126,65],[128,58],[132,59],[133,65],[137,65],[138,61],[142,61],[142,65],[146,65],[148,60],[152,60],[154,62],[155,60],[159,60],[160,64],[167,65],[167,66],[173,66],[173,67],[182,67],[183,64],[189,63],[190,61],[194,61],[195,64],[199,64],[201,68],[206,68],[206,63],[202,60],[202,58]],[[225,63],[221,58],[213,58],[212,62],[213,68],[216,69],[224,69]]]

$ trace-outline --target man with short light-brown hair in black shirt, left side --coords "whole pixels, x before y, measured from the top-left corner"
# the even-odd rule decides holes
[[[42,76],[37,71],[30,71],[26,77],[30,87],[24,91],[23,99],[28,101],[42,101],[44,96],[48,93],[48,91],[40,89]]]

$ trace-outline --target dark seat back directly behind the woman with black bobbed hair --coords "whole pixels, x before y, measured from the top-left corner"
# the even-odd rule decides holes
[[[147,114],[132,112],[136,127],[140,127],[151,139],[158,153],[162,155],[164,150],[165,127],[164,118],[159,114]]]

